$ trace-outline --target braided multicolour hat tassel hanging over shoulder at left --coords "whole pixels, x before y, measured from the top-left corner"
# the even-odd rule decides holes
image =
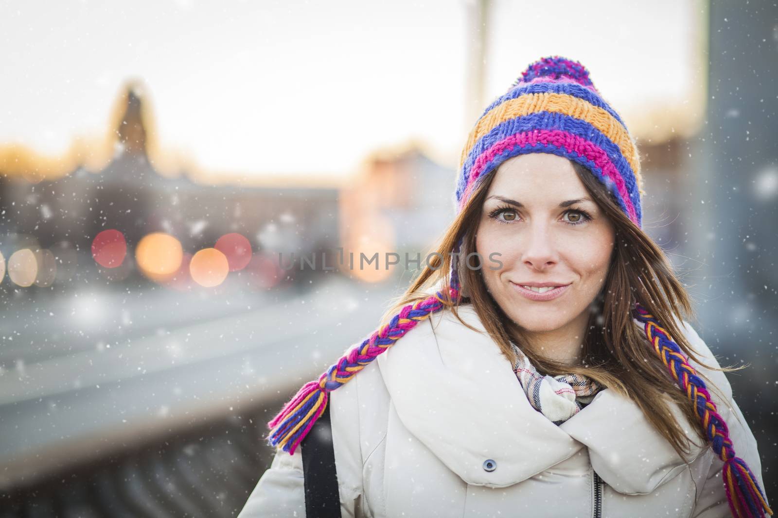
[[[455,301],[457,297],[457,288],[451,287],[451,300]],[[284,405],[279,415],[268,422],[268,428],[271,429],[268,443],[277,449],[289,452],[290,455],[294,454],[303,438],[314,426],[314,422],[327,407],[328,394],[351,380],[354,374],[363,370],[419,322],[443,309],[442,298],[443,295],[438,291],[422,301],[408,304],[398,315],[394,315],[391,322],[373,332],[369,339],[351,349],[322,373],[318,381],[304,384],[300,391]]]

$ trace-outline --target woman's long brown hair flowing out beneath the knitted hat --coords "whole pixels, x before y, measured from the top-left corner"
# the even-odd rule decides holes
[[[663,396],[675,402],[690,423],[696,423],[696,433],[703,444],[708,442],[706,431],[699,421],[694,402],[678,390],[668,368],[650,346],[642,329],[633,322],[632,309],[635,303],[639,302],[654,315],[682,351],[696,363],[710,370],[727,372],[745,367],[712,367],[699,360],[680,328],[682,320],[690,322],[694,319],[691,300],[664,251],[622,212],[612,195],[589,169],[576,162],[573,162],[573,167],[594,202],[615,228],[608,276],[600,294],[590,306],[591,314],[580,364],[571,366],[551,360],[522,346],[522,330],[499,308],[485,287],[483,265],[476,263],[480,256],[474,254],[469,267],[464,267],[463,259],[475,252],[478,221],[489,186],[496,176],[494,172],[477,187],[438,245],[433,247],[429,262],[405,293],[393,301],[381,324],[389,322],[399,308],[429,297],[429,287],[440,281],[443,304],[446,305],[444,311],[450,309],[462,322],[457,315],[457,305],[471,303],[482,325],[511,364],[516,360],[510,346],[510,340],[513,339],[541,373],[552,376],[583,374],[617,391],[635,402],[678,456],[684,458],[690,451],[689,438],[674,419]],[[463,238],[460,250],[462,259],[457,275],[461,283],[461,297],[459,301],[454,301],[447,297],[452,259],[450,252],[455,249],[460,238]],[[465,322],[462,324],[473,329]],[[706,381],[709,390],[714,389],[707,377],[699,372],[698,375]]]

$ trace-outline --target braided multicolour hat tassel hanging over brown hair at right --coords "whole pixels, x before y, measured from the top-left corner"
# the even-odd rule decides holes
[[[697,415],[705,426],[709,440],[713,441],[713,451],[724,461],[722,478],[732,516],[765,518],[765,513],[772,516],[773,510],[767,505],[765,493],[745,461],[735,455],[727,423],[717,412],[716,404],[711,400],[705,383],[697,376],[694,367],[689,365],[688,358],[657,318],[649,315],[640,304],[636,304],[634,316],[645,324],[649,342],[668,367],[678,387],[696,403]]]

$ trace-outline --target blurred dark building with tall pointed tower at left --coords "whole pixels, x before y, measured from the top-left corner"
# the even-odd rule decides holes
[[[102,169],[76,164],[54,179],[0,170],[0,233],[10,236],[0,249],[6,259],[19,247],[53,248],[58,260],[59,252],[71,249],[77,259],[70,260],[83,271],[96,266],[89,257],[93,239],[111,228],[128,244],[123,267],[129,271],[121,278],[130,279],[127,274],[137,272],[131,250],[152,232],[173,235],[185,255],[233,232],[246,237],[254,253],[280,252],[285,260],[291,253],[319,255],[338,245],[336,186],[213,185],[193,181],[185,169],[163,176],[149,158],[149,113],[142,95],[128,87],[125,99],[113,156]],[[300,273],[289,269],[284,276]]]

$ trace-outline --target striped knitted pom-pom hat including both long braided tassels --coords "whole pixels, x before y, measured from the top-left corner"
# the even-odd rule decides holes
[[[594,88],[589,71],[582,64],[559,56],[535,61],[506,94],[485,110],[462,151],[455,191],[457,210],[462,210],[479,183],[501,163],[524,153],[552,153],[584,165],[612,193],[629,219],[642,226],[640,199],[644,192],[636,144],[619,114]],[[457,249],[461,242],[460,238]],[[349,350],[317,380],[304,384],[268,422],[268,443],[294,454],[324,412],[329,392],[350,381],[419,322],[445,308],[444,298],[459,301],[456,261],[452,262],[447,295],[438,291],[406,305],[387,325]],[[752,471],[735,455],[727,423],[682,349],[657,318],[638,303],[633,317],[643,323],[652,348],[678,386],[696,403],[713,451],[724,461],[722,478],[733,516],[772,515]]]

